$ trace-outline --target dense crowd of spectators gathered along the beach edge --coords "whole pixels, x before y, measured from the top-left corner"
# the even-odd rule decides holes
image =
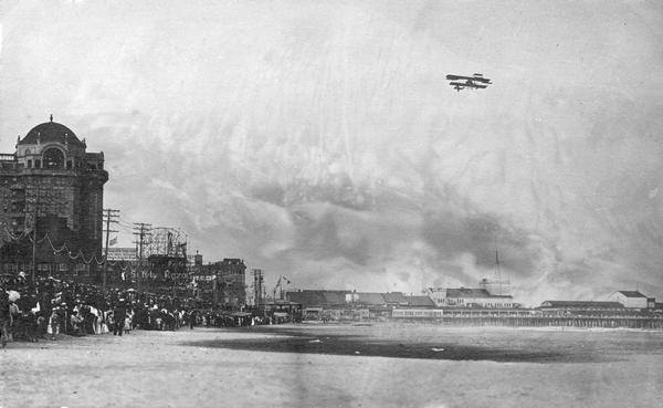
[[[103,292],[91,284],[23,272],[0,281],[2,348],[14,341],[56,341],[61,335],[122,336],[135,328],[177,331],[183,326],[236,327],[277,322],[272,316],[197,307],[177,299],[134,289]]]

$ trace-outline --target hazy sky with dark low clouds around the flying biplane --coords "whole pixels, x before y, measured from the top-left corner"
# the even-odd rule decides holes
[[[293,287],[502,272],[663,296],[657,1],[0,2],[0,151],[49,114],[105,207]],[[481,72],[456,93],[448,73]],[[131,237],[120,236],[128,245]]]

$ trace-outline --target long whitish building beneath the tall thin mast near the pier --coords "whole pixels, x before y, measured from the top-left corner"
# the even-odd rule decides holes
[[[470,287],[429,287],[428,295],[438,307],[491,307],[509,308],[515,307],[513,296],[493,295],[485,289]]]

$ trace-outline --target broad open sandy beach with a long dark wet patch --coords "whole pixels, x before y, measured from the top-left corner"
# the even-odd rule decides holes
[[[0,407],[659,407],[663,333],[385,324],[134,332],[0,352]]]

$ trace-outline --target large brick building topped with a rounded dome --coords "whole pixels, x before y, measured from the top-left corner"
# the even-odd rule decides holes
[[[96,278],[108,172],[86,147],[51,116],[0,154],[0,272],[31,272],[36,236],[38,275]]]

